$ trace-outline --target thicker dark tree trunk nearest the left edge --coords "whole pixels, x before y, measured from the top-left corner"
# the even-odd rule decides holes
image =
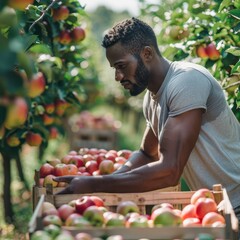
[[[6,223],[12,223],[13,209],[11,202],[11,157],[5,153],[2,153],[2,157],[4,171],[4,187],[3,187],[4,218]]]

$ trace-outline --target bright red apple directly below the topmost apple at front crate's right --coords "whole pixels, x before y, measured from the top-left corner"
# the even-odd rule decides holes
[[[201,220],[208,212],[216,212],[217,204],[212,198],[199,198],[195,203],[195,213]]]

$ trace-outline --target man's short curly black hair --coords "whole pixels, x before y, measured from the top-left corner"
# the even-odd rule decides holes
[[[153,29],[145,22],[134,17],[111,28],[104,36],[102,46],[108,48],[118,42],[132,54],[139,54],[143,47],[152,46],[157,54],[161,55]]]

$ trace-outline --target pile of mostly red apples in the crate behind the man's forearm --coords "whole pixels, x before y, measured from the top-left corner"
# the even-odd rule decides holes
[[[131,156],[132,151],[106,150],[98,148],[80,148],[79,151],[69,151],[61,159],[53,159],[44,163],[39,169],[40,187],[51,184],[53,187],[64,187],[66,183],[56,182],[55,176],[95,176],[106,175],[120,169]]]

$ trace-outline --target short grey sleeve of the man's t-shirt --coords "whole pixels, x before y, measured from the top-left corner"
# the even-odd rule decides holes
[[[169,116],[174,117],[197,108],[206,111],[211,84],[204,74],[193,69],[177,75],[167,91]]]

